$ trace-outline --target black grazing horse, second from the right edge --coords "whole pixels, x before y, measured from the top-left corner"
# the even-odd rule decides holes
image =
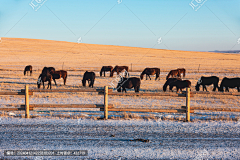
[[[213,84],[214,88],[213,88],[212,91],[216,91],[216,88],[218,88],[218,82],[219,82],[219,78],[216,77],[216,76],[211,76],[211,77],[204,77],[204,76],[202,76],[198,80],[198,82],[197,82],[197,84],[195,86],[195,89],[196,89],[196,91],[199,91],[199,86],[202,85],[203,91],[204,91],[204,89],[207,91],[206,85]]]

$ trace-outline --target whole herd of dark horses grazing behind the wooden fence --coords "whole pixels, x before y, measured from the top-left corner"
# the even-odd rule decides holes
[[[100,70],[100,76],[102,76],[102,73],[104,73],[104,77],[105,77],[106,76],[105,72],[110,72],[110,77],[113,77],[113,74],[115,72],[117,72],[117,75],[119,75],[123,71],[125,71],[125,77],[121,76],[121,79],[118,82],[118,85],[117,85],[118,92],[121,92],[121,91],[126,92],[126,88],[127,89],[134,88],[135,92],[139,92],[141,80],[143,79],[144,75],[146,75],[146,80],[148,77],[151,80],[150,75],[156,75],[155,80],[157,79],[160,80],[160,68],[145,68],[141,73],[140,78],[138,78],[138,77],[129,77],[128,66],[115,66],[114,68],[112,66],[103,66]],[[31,65],[28,65],[25,67],[24,75],[26,75],[27,72],[30,72],[30,75],[32,74]],[[166,77],[166,82],[163,85],[163,91],[165,92],[168,86],[169,86],[169,90],[171,91],[173,87],[176,87],[177,92],[179,90],[182,92],[182,89],[190,87],[191,82],[189,80],[182,80],[181,79],[182,74],[183,74],[183,77],[185,77],[186,70],[184,68],[171,70]],[[93,87],[95,77],[96,75],[94,72],[86,71],[83,75],[82,85],[86,86],[86,81],[88,81],[89,87]],[[53,67],[44,67],[42,70],[42,73],[38,77],[37,86],[38,88],[40,88],[42,83],[44,88],[44,82],[48,82],[48,88],[50,87],[51,89],[51,81],[53,80],[55,82],[55,85],[57,85],[55,79],[60,79],[60,78],[63,78],[64,85],[65,85],[66,79],[67,79],[67,71],[64,71],[64,70],[56,71],[55,68]],[[240,92],[240,78],[224,77],[220,84],[220,87],[218,87],[218,83],[219,83],[219,78],[216,76],[211,76],[211,77],[202,76],[198,80],[195,86],[195,89],[196,91],[199,91],[200,86],[202,85],[203,91],[204,90],[207,91],[206,86],[213,84],[214,86],[213,91],[216,91],[216,89],[218,89],[218,91],[223,92],[225,88],[225,91],[229,92],[229,88],[237,87],[238,92]]]

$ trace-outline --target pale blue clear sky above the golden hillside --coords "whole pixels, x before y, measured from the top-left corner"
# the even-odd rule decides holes
[[[0,37],[240,50],[240,1],[0,0]]]

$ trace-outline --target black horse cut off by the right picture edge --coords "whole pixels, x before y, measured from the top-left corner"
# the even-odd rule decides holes
[[[237,87],[238,92],[240,92],[240,78],[227,78],[224,77],[218,91],[223,92],[223,87],[225,87],[225,92],[229,92],[228,88]]]

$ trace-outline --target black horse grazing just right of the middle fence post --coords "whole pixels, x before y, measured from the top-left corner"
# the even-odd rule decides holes
[[[121,88],[122,88],[122,92],[123,91],[127,92],[126,88],[128,89],[134,88],[135,92],[139,92],[140,85],[141,85],[140,78],[137,78],[137,77],[124,78],[123,77],[118,82],[117,91],[121,92]]]

